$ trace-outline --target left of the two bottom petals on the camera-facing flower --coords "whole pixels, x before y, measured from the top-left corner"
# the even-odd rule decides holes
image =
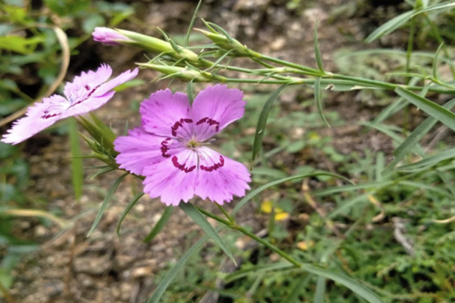
[[[178,205],[180,200],[188,202],[194,196],[198,176],[198,154],[188,148],[170,159],[144,168],[144,192],[150,197],[161,196],[166,205]]]

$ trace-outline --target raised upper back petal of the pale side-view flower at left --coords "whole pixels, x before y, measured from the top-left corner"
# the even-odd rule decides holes
[[[112,75],[112,69],[107,64],[102,64],[96,72],[82,72],[74,77],[73,82],[67,82],[63,93],[71,103],[83,100],[93,94],[93,91],[106,82]]]

